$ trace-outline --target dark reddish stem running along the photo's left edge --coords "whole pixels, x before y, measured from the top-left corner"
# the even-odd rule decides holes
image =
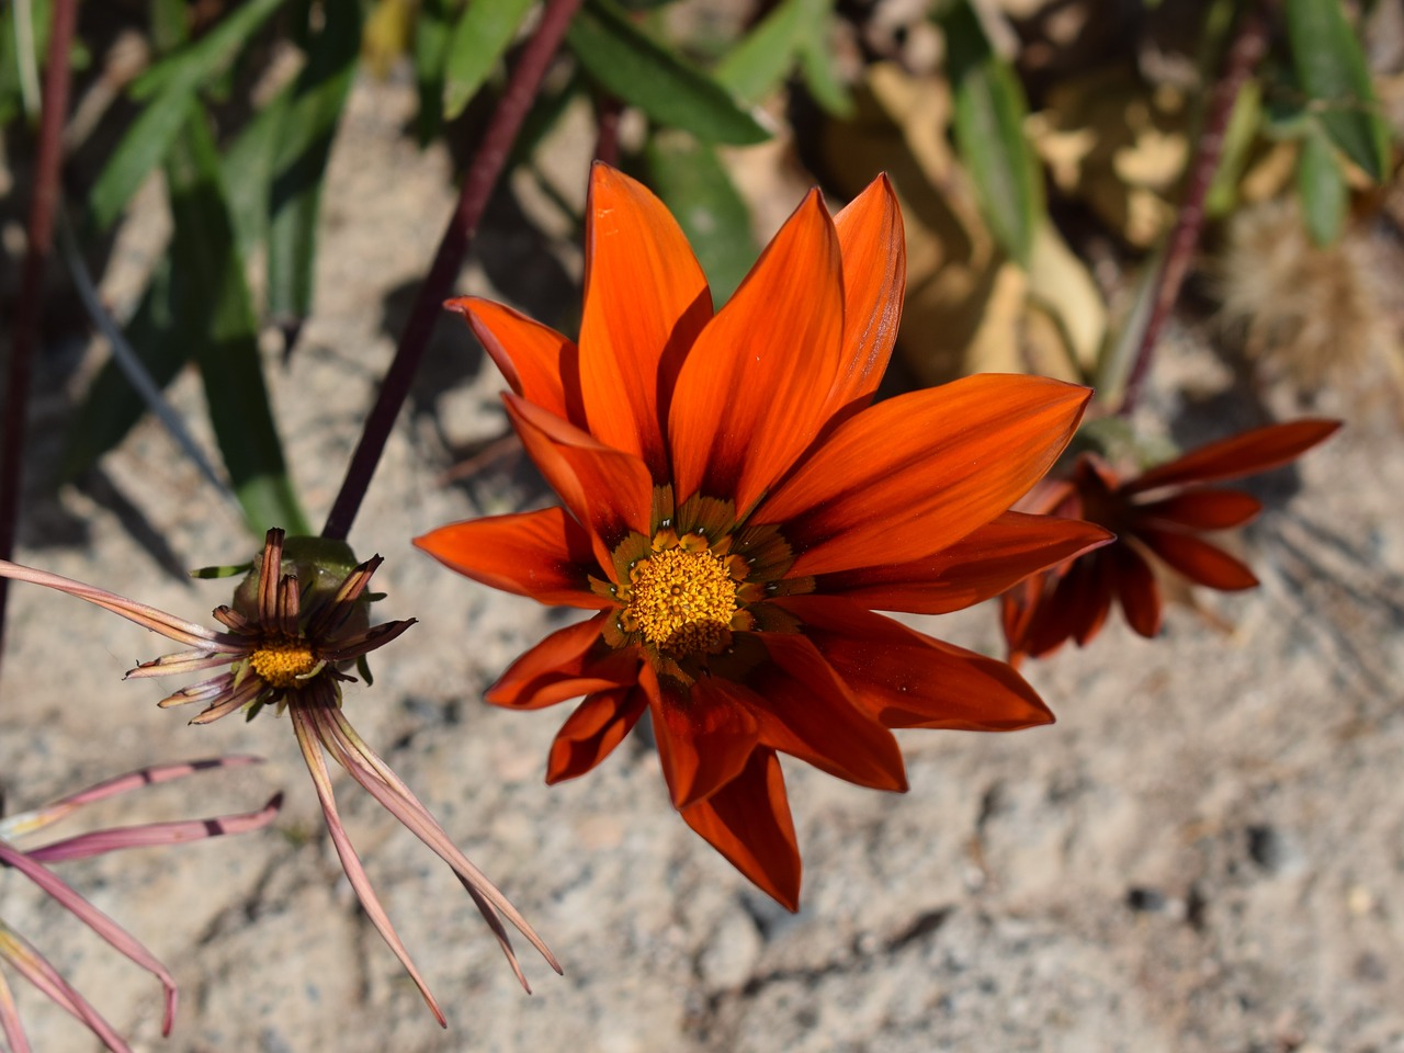
[[[20,298],[14,306],[10,365],[6,376],[4,424],[0,434],[0,559],[14,555],[15,524],[20,515],[29,376],[44,310],[44,268],[53,243],[53,215],[59,202],[63,118],[69,111],[69,49],[76,22],[77,0],[55,0],[49,56],[44,70],[44,100],[39,108],[39,146],[34,166],[34,199],[29,202],[28,244],[20,278]],[[8,581],[0,578],[0,643],[4,640],[7,600]]]

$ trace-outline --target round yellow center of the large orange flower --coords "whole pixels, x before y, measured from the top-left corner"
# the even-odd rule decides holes
[[[719,651],[736,615],[736,580],[722,556],[702,548],[654,552],[629,571],[628,632],[684,658]]]

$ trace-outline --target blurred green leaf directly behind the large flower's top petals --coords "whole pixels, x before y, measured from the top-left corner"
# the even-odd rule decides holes
[[[644,147],[649,185],[678,220],[702,264],[717,307],[731,295],[758,249],[751,213],[716,150],[685,132],[661,131]]]

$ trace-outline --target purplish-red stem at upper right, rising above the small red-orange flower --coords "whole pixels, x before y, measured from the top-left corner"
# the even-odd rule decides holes
[[[1179,289],[1185,284],[1189,261],[1205,226],[1205,198],[1214,181],[1214,173],[1219,170],[1219,159],[1223,156],[1228,118],[1233,115],[1243,83],[1268,49],[1268,14],[1272,7],[1272,0],[1258,0],[1258,3],[1247,6],[1240,15],[1238,29],[1228,53],[1224,56],[1223,73],[1219,76],[1209,100],[1198,152],[1191,163],[1189,178],[1185,181],[1185,198],[1179,205],[1179,216],[1170,234],[1170,247],[1155,281],[1155,303],[1150,317],[1146,319],[1146,329],[1141,331],[1136,359],[1126,379],[1122,404],[1118,409],[1118,414],[1122,417],[1129,417],[1136,409],[1155,344],[1160,340],[1160,330],[1165,324],[1165,319],[1170,317],[1170,309],[1175,306]]]

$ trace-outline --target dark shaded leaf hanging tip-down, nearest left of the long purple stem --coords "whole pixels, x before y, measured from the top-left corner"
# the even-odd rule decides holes
[[[282,110],[268,204],[268,313],[295,326],[312,312],[317,216],[331,140],[361,53],[359,0],[327,0]]]

